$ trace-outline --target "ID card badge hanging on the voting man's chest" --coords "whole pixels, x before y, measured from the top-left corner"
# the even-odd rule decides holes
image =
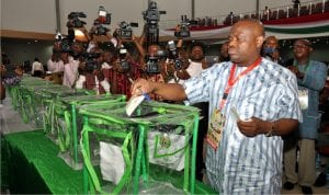
[[[207,131],[206,141],[215,150],[219,146],[222,133],[225,126],[225,116],[220,113],[220,110],[215,110],[211,116],[211,123]]]

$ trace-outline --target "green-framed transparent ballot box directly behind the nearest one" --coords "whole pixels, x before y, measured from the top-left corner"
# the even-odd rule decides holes
[[[78,140],[82,129],[82,117],[79,115],[79,108],[90,104],[111,104],[125,102],[123,94],[102,94],[102,95],[82,95],[58,97],[54,103],[53,128],[57,134],[57,142],[60,148],[60,158],[68,165],[78,170],[82,168],[82,157]]]

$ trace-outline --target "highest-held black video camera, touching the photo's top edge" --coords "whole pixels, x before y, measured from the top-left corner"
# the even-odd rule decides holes
[[[158,31],[158,22],[160,21],[160,14],[166,14],[166,11],[159,11],[157,2],[149,1],[148,8],[143,12],[144,20],[148,24],[149,33],[156,33]]]

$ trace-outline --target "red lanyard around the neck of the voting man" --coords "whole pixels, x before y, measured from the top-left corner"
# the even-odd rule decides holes
[[[262,61],[262,58],[258,58],[253,64],[251,64],[246,70],[243,70],[242,72],[240,72],[236,78],[235,77],[235,72],[236,72],[236,68],[237,68],[237,65],[234,64],[231,69],[230,69],[230,72],[229,72],[229,78],[228,78],[228,81],[227,81],[227,85],[225,88],[225,91],[224,91],[224,94],[223,94],[223,97],[220,100],[220,103],[219,103],[219,110],[222,110],[226,103],[226,99],[228,96],[228,93],[230,92],[231,88],[235,85],[235,83],[243,76],[246,76],[248,72],[250,72],[252,69],[254,69],[257,66],[260,65],[260,62]]]

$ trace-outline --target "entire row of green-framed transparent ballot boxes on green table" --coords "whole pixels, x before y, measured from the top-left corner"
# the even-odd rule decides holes
[[[126,115],[126,97],[95,95],[38,78],[10,89],[23,121],[83,169],[86,194],[184,194],[195,190],[198,110],[143,102]]]

